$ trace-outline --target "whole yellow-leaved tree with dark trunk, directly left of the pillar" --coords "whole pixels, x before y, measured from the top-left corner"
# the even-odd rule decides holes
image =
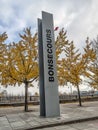
[[[2,69],[3,85],[25,84],[25,111],[28,111],[28,86],[38,78],[37,34],[30,28],[20,34],[21,40],[7,46]]]

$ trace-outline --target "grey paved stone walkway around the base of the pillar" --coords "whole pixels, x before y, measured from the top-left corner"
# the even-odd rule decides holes
[[[78,103],[62,104],[61,116],[56,118],[40,117],[39,106],[29,106],[29,110],[30,112],[25,113],[23,107],[0,107],[0,130],[91,130],[82,129],[83,125],[78,129],[81,124],[78,122],[85,124],[87,122],[84,121],[98,119],[97,101],[85,102],[82,107]],[[78,125],[75,128],[76,124]],[[96,129],[92,127],[92,130]]]

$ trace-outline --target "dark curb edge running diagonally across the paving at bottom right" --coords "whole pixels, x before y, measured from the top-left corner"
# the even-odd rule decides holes
[[[35,127],[28,128],[28,129],[25,129],[25,130],[35,130],[35,129],[55,127],[55,126],[60,126],[60,125],[69,125],[69,124],[80,123],[80,122],[85,122],[85,121],[92,121],[92,120],[97,120],[97,119],[98,119],[98,116],[83,118],[83,119],[76,119],[76,120],[71,120],[71,121],[62,121],[62,122],[56,122],[56,123],[54,122],[52,124],[46,124],[46,125],[42,125],[42,126],[35,126]]]

